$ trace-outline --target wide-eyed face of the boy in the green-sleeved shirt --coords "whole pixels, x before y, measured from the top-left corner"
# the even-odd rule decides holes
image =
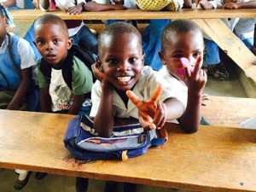
[[[34,28],[35,44],[44,60],[56,65],[65,60],[67,49],[72,46],[72,39],[61,25],[47,23]]]

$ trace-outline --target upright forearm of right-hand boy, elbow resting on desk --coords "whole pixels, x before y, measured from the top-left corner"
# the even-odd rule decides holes
[[[201,93],[195,94],[188,92],[187,108],[179,119],[184,131],[189,133],[196,132],[201,120]]]

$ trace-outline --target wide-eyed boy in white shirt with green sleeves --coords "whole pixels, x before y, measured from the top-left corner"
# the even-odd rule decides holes
[[[34,33],[43,57],[38,61],[42,112],[89,114],[83,103],[93,84],[92,73],[85,66],[89,63],[84,64],[73,55],[73,40],[68,38],[64,20],[56,15],[42,15],[35,21]],[[78,180],[87,188],[87,179],[77,177],[77,184]]]

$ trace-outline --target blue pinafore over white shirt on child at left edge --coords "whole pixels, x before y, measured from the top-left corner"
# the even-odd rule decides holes
[[[20,69],[20,57],[18,53],[18,42],[20,38],[17,36],[11,37],[12,55],[15,60],[15,65],[17,65],[17,67]],[[21,79],[16,73],[15,67],[13,66],[13,62],[10,59],[9,49],[6,49],[5,52],[2,55],[0,55],[0,63],[0,90],[17,90],[20,85]]]

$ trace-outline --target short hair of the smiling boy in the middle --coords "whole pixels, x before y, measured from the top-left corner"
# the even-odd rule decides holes
[[[100,49],[104,44],[104,38],[108,35],[115,36],[117,34],[130,33],[135,34],[138,38],[139,44],[142,44],[142,34],[137,30],[135,26],[132,26],[126,22],[114,22],[105,27],[105,29],[100,33],[98,37],[98,49]]]

